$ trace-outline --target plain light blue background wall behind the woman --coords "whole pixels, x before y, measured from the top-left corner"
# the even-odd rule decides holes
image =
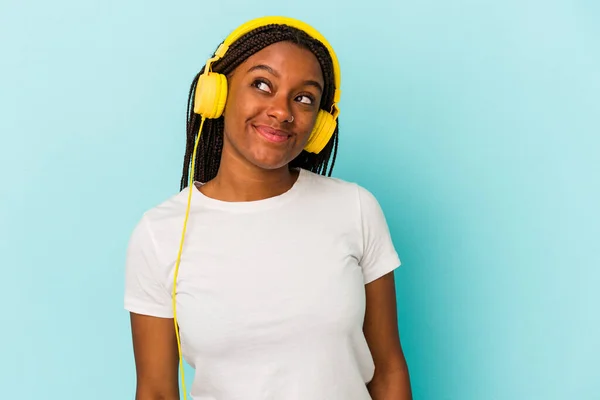
[[[0,397],[133,398],[127,240],[194,74],[267,14],[338,52],[335,175],[388,217],[415,399],[600,399],[593,0],[3,0]]]

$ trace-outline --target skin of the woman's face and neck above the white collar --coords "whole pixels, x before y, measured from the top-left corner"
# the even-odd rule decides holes
[[[260,200],[289,190],[297,173],[287,165],[306,145],[319,111],[324,82],[317,59],[308,50],[276,43],[249,57],[228,82],[221,165],[200,190],[225,201]],[[261,126],[290,138],[270,142],[257,133]]]

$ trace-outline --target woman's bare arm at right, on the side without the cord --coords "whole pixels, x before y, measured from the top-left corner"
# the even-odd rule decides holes
[[[411,400],[408,366],[404,358],[392,272],[366,285],[364,333],[375,362],[375,375],[367,385],[373,400]]]

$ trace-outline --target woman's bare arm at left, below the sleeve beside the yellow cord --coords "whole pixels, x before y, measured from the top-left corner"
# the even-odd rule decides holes
[[[137,374],[135,400],[179,400],[179,353],[173,319],[130,315]]]

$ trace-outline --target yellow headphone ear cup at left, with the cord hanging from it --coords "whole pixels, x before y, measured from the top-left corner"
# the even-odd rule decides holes
[[[227,78],[223,74],[209,72],[198,78],[194,96],[194,112],[204,118],[219,118],[227,101]]]

